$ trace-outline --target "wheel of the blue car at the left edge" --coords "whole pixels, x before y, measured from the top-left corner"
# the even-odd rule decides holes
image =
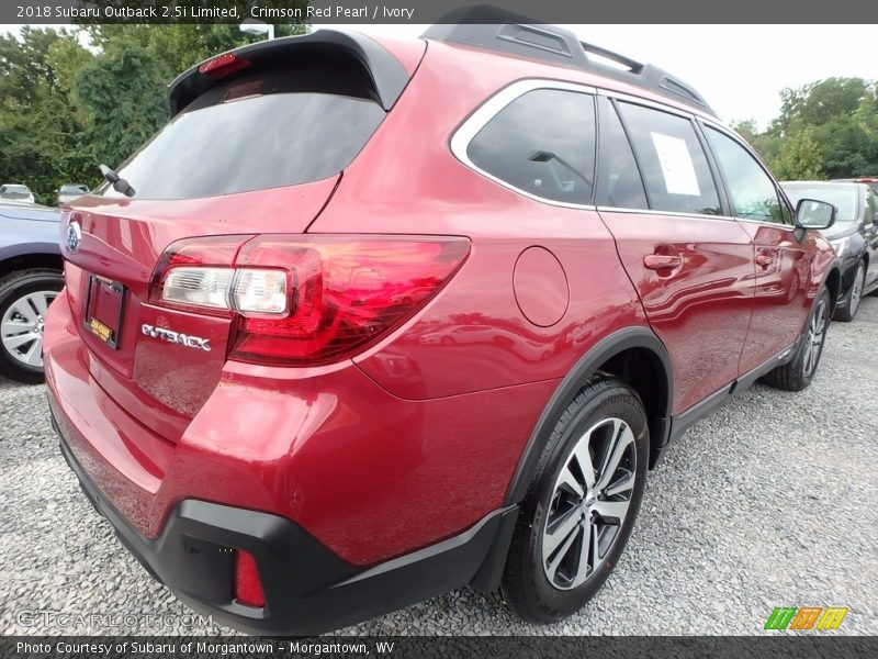
[[[0,372],[30,384],[43,381],[45,311],[63,288],[58,270],[19,270],[0,280]]]

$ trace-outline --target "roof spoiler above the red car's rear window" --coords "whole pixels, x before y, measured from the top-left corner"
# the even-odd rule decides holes
[[[363,34],[341,30],[318,30],[302,36],[286,36],[241,46],[196,64],[180,74],[169,86],[171,118],[216,83],[216,78],[199,71],[210,62],[234,54],[252,65],[278,65],[319,58],[327,51],[348,54],[362,64],[374,85],[376,100],[384,110],[393,108],[409,76],[405,67],[376,42]]]

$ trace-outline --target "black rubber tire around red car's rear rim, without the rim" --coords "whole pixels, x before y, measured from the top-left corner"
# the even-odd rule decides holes
[[[599,421],[611,416],[628,423],[635,438],[637,478],[629,514],[598,573],[575,589],[559,590],[549,582],[542,568],[542,534],[554,483],[570,451],[583,433]],[[637,394],[626,386],[614,386],[594,398],[582,401],[563,429],[560,433],[558,431],[556,427],[554,443],[550,443],[547,447],[548,459],[538,469],[536,487],[530,494],[530,505],[524,511],[530,521],[524,552],[525,573],[528,580],[526,594],[529,599],[532,597],[531,604],[549,618],[560,618],[581,608],[600,590],[612,572],[624,550],[640,510],[649,461],[649,432],[643,405]]]

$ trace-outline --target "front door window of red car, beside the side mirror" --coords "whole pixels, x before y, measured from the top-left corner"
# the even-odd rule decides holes
[[[705,127],[705,134],[725,179],[734,216],[758,222],[787,223],[772,177],[747,149],[710,126]]]

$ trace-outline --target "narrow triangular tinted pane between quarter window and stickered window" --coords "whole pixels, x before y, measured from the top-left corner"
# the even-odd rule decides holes
[[[605,142],[600,143],[597,204],[617,209],[649,209],[643,180],[619,115],[610,105],[606,116],[605,122],[601,114],[601,125],[606,123],[606,130]]]

